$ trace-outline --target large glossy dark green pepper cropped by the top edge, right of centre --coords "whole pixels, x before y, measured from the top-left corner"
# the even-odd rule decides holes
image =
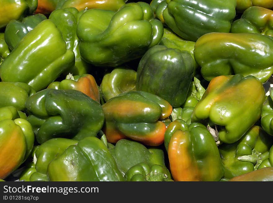
[[[229,33],[235,18],[236,0],[166,0],[163,18],[180,37],[196,41],[206,33]]]

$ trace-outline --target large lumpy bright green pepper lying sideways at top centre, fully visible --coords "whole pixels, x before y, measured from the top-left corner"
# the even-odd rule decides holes
[[[117,67],[142,57],[163,36],[163,24],[145,2],[127,3],[115,11],[90,9],[81,15],[77,36],[85,61]]]

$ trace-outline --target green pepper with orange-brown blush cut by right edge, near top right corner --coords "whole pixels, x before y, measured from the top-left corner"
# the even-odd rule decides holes
[[[241,18],[235,20],[231,33],[260,33],[273,36],[273,11],[263,7],[252,6],[246,9]]]

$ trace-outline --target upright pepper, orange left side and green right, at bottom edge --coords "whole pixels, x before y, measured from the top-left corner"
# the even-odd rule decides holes
[[[174,181],[219,181],[222,178],[224,167],[219,150],[205,126],[191,125],[188,130],[182,126],[173,129],[171,134],[168,158]]]

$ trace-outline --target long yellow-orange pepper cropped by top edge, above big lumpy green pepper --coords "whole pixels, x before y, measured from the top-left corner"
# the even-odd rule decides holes
[[[75,7],[78,11],[98,8],[103,10],[118,11],[128,0],[59,0],[56,9]]]

